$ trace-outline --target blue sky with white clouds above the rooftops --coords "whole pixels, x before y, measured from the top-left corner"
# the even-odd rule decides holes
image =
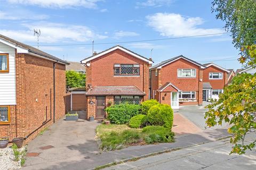
[[[239,69],[239,52],[223,29],[225,23],[211,13],[211,2],[0,0],[0,34],[37,47],[34,29],[40,29],[39,49],[67,61],[91,56],[94,40],[96,52],[121,45],[155,64],[183,55]]]

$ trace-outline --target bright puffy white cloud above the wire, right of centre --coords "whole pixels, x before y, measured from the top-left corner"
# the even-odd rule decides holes
[[[200,17],[185,17],[175,13],[156,13],[146,16],[148,25],[162,36],[196,36],[223,32],[219,28],[198,28],[204,20]]]

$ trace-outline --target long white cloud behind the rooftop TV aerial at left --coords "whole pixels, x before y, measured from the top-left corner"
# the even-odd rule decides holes
[[[92,39],[103,39],[107,36],[101,36],[93,32],[88,27],[82,25],[61,24],[61,23],[25,23],[22,24],[26,30],[7,30],[0,29],[0,33],[17,39],[22,42],[34,42],[36,44],[36,38],[34,37],[34,29],[41,30],[41,36],[39,37],[39,43],[70,43],[73,41],[91,41]]]

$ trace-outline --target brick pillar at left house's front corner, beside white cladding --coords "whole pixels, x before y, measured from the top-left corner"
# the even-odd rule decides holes
[[[15,49],[17,137],[26,136],[26,61]]]

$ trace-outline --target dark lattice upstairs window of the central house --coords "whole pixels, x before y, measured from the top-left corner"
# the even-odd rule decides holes
[[[114,75],[140,75],[140,64],[114,64]]]

